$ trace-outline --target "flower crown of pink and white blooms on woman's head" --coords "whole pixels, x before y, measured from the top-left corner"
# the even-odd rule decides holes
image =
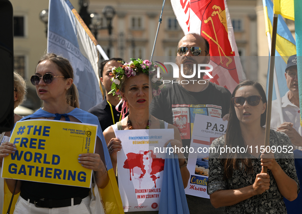
[[[154,63],[149,60],[141,60],[130,58],[129,63],[121,62],[123,65],[120,67],[113,67],[111,69],[110,75],[112,76],[111,81],[113,82],[111,85],[111,91],[108,94],[117,94],[120,99],[122,98],[120,87],[121,81],[123,77],[126,75],[127,77],[135,76],[137,72],[143,72],[145,74],[151,75],[151,83],[152,83],[152,95],[158,96],[161,92],[161,89],[165,87],[164,81],[162,81],[162,77],[157,78],[157,67],[158,65],[154,65]]]

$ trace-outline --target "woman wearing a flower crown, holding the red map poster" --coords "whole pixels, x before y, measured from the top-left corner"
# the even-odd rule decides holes
[[[157,65],[148,60],[131,59],[129,63],[125,63],[122,67],[112,68],[111,93],[118,94],[124,101],[123,108],[128,108],[129,115],[121,120],[120,128],[118,125],[109,126],[104,131],[104,137],[107,143],[113,169],[117,166],[117,152],[122,149],[122,142],[115,137],[115,130],[129,129],[149,129],[149,128],[173,128],[174,139],[170,142],[171,146],[182,147],[178,129],[171,124],[160,121],[149,114],[150,97],[160,94],[160,89],[164,84],[160,78],[156,78]],[[149,75],[153,78],[149,78]],[[152,87],[152,95],[151,90]],[[163,127],[164,126],[164,127]],[[182,176],[184,188],[188,184],[190,173],[187,169],[187,160],[183,153],[178,153],[178,161]]]

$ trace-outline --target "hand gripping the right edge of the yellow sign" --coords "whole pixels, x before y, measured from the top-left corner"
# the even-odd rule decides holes
[[[78,161],[83,167],[94,170],[95,172],[102,171],[105,167],[100,155],[97,153],[80,154]]]

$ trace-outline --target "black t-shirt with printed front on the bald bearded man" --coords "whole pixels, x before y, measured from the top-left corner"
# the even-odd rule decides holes
[[[180,132],[183,147],[190,147],[195,114],[222,118],[229,112],[230,98],[231,93],[227,89],[211,82],[201,92],[191,92],[178,83],[170,83],[161,90],[160,95],[153,98],[150,113],[175,125]],[[224,208],[214,208],[210,199],[186,196],[190,213],[223,213]]]

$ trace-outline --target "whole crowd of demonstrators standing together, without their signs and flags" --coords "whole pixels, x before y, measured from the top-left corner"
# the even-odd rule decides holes
[[[117,130],[171,128],[174,139],[165,146],[171,143],[173,147],[190,147],[193,127],[189,124],[184,130],[175,126],[179,110],[189,113],[202,106],[205,112],[209,112],[215,106],[220,118],[228,120],[225,135],[213,141],[213,148],[260,148],[264,145],[267,99],[259,83],[244,81],[233,93],[209,81],[204,84],[194,84],[194,81],[182,85],[167,84],[163,88],[160,78],[155,81],[153,78],[156,65],[148,60],[137,61],[139,63],[127,63],[121,58],[112,58],[101,63],[100,80],[106,96],[88,113],[79,109],[71,64],[63,57],[47,53],[31,77],[43,107],[27,117],[15,115],[14,122],[48,119],[98,125],[95,153],[79,154],[75,161],[94,171],[99,188],[104,188],[109,179],[102,145],[107,146],[113,170],[118,174],[117,152],[122,149],[123,142],[117,138]],[[202,36],[188,34],[179,41],[176,64],[183,65],[185,75],[192,74],[195,65],[209,62],[210,45]],[[282,98],[285,122],[280,121],[279,111],[273,104],[271,127],[275,130],[270,130],[270,146],[302,148],[296,62],[296,56],[290,57],[285,71],[289,88]],[[16,108],[24,100],[26,86],[22,77],[17,73],[14,76]],[[178,81],[182,78],[179,77]],[[111,87],[112,83],[114,87]],[[17,150],[8,141],[9,132],[2,136],[7,137],[0,139],[1,162]],[[190,178],[188,153],[178,152],[177,156],[183,189]],[[300,190],[292,153],[265,153],[260,149],[245,154],[210,152],[208,164],[207,193],[210,199],[187,195],[190,213],[200,213],[201,210],[202,213],[287,213],[283,197],[293,201]],[[264,167],[267,167],[267,173]],[[91,213],[88,188],[13,179],[5,179],[5,182],[13,194],[20,193],[14,213],[50,213],[50,209],[52,213]],[[3,201],[1,196],[0,200]]]

